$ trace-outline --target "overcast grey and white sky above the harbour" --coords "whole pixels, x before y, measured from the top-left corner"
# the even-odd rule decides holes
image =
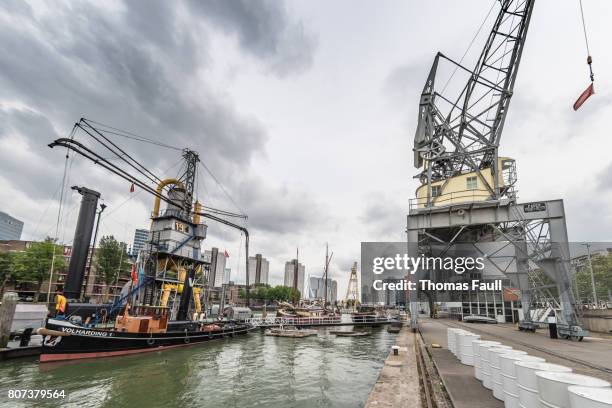
[[[5,0],[0,210],[25,222],[24,239],[55,235],[65,160],[47,144],[90,118],[198,151],[249,215],[251,250],[270,260],[272,283],[296,247],[307,274],[320,275],[329,242],[343,296],[361,241],[404,238],[426,74],[437,51],[463,55],[492,2]],[[584,5],[597,95],[572,111],[588,85],[578,1],[538,0],[500,154],[517,160],[521,200],[563,198],[570,239],[604,241],[612,240],[612,3]],[[176,175],[180,152],[117,142],[157,174]],[[146,193],[130,194],[82,158],[68,169],[67,184],[100,191],[109,206],[101,234],[131,242],[148,226]],[[198,196],[236,210],[204,171]],[[67,192],[65,243],[78,199]],[[210,224],[209,235],[205,245],[226,249],[243,280],[240,234]]]

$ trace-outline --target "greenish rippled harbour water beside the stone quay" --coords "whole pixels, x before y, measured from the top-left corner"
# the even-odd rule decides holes
[[[345,327],[343,330],[349,330]],[[7,407],[361,407],[395,335],[248,336],[139,356],[0,363]],[[64,389],[57,401],[8,401],[9,389]]]

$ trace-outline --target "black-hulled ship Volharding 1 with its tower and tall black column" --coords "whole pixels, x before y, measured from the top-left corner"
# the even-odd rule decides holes
[[[83,126],[103,135],[103,129],[86,119],[75,125]],[[152,194],[155,201],[148,240],[132,265],[131,279],[121,295],[112,304],[81,303],[83,287],[88,283],[87,278],[84,283],[84,277],[100,193],[73,187],[82,195],[82,202],[68,274],[61,290],[68,302],[62,313],[47,319],[45,327],[38,331],[43,335],[41,362],[144,353],[248,333],[251,326],[242,320],[206,316],[205,303],[214,290],[216,268],[201,253],[208,228],[202,220],[212,219],[245,234],[247,288],[248,231],[217,216],[246,218],[245,215],[204,207],[195,199],[200,160],[196,152],[183,150],[184,171],[180,178],[155,176],[152,179],[157,187],[152,188],[74,139],[58,139],[50,146],[65,147],[95,164],[103,163],[102,167],[131,181],[131,191],[134,185],[139,186]],[[119,149],[115,144],[105,147],[111,151]],[[119,158],[134,160],[121,149],[115,153]],[[248,306],[248,289],[246,300]]]

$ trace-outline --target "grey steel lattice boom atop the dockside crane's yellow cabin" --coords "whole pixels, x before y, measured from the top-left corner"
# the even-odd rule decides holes
[[[498,147],[512,98],[535,0],[499,0],[500,10],[476,66],[470,70],[438,53],[421,94],[414,137],[414,165],[428,185],[459,174],[475,173],[490,199],[500,199]],[[435,88],[441,60],[468,80],[453,96]],[[434,195],[435,196],[435,195]]]

